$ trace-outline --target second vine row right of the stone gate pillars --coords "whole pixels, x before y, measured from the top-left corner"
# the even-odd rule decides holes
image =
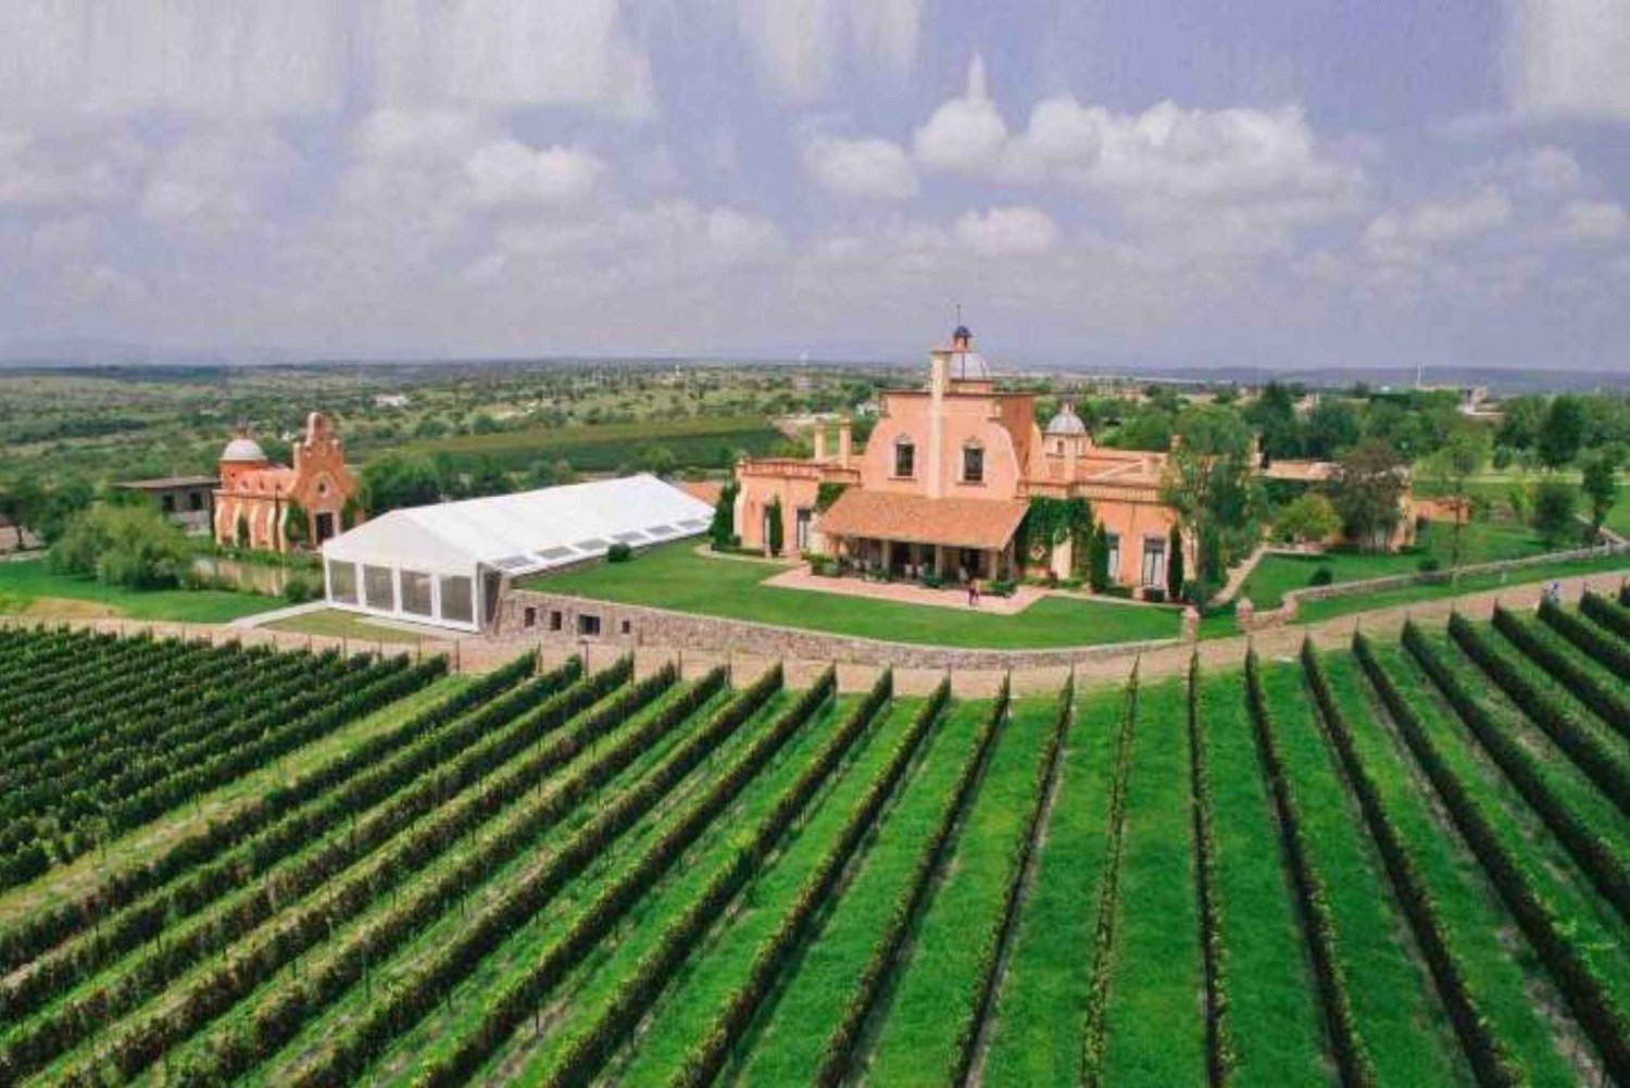
[[[1428,971],[1431,971],[1438,997],[1449,1013],[1449,1023],[1454,1026],[1454,1034],[1460,1041],[1460,1049],[1472,1065],[1477,1083],[1490,1088],[1524,1083],[1527,1078],[1522,1067],[1511,1057],[1500,1037],[1488,1029],[1488,1021],[1477,1006],[1477,995],[1467,984],[1460,959],[1449,944],[1447,928],[1438,915],[1438,905],[1426,891],[1408,847],[1403,845],[1403,838],[1392,825],[1376,780],[1369,775],[1353,744],[1353,726],[1330,693],[1330,683],[1312,639],[1302,641],[1302,670],[1307,674],[1307,687],[1319,706],[1319,721],[1325,737],[1330,739],[1348,788],[1358,799],[1359,812],[1364,816],[1364,824],[1376,842],[1387,878],[1392,881],[1392,891],[1403,907],[1403,917],[1408,918],[1410,931],[1415,935]]]

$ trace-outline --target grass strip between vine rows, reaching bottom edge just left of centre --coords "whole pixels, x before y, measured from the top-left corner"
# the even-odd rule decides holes
[[[988,713],[988,705],[958,703],[934,729],[927,755],[883,817],[877,842],[751,1039],[742,1059],[740,1083],[813,1081],[826,1039],[870,959],[879,928],[939,827]]]

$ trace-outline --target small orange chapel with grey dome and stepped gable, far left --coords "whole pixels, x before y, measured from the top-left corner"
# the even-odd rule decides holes
[[[215,542],[261,551],[318,546],[360,519],[346,447],[319,411],[306,416],[293,465],[274,465],[246,431],[220,452]]]

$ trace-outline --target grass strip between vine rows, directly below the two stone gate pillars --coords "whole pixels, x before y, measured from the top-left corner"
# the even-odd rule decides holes
[[[1200,683],[1237,1085],[1324,1085],[1324,1029],[1239,672]]]

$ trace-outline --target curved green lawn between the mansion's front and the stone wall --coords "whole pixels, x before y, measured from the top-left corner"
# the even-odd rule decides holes
[[[880,638],[895,643],[1029,649],[1177,638],[1177,608],[1045,597],[1019,615],[866,600],[760,582],[760,563],[701,556],[691,542],[644,551],[632,563],[595,563],[522,582],[522,589],[675,608],[730,620]]]

